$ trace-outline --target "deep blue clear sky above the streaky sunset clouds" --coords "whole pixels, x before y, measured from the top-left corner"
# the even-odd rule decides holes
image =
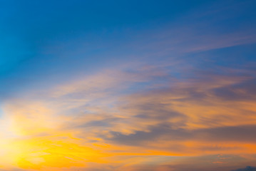
[[[103,63],[130,60],[128,56],[141,58],[147,51],[165,51],[173,38],[182,41],[178,48],[191,46],[191,41],[200,42],[202,38],[206,39],[202,43],[210,43],[210,36],[241,39],[247,36],[245,41],[250,43],[246,39],[250,39],[248,36],[254,33],[256,24],[253,1],[1,3],[1,74],[28,76],[31,80],[38,74],[62,75],[65,68],[83,71],[101,67]],[[162,41],[166,41],[163,47],[152,45]],[[240,43],[244,44],[237,40],[237,46]],[[150,46],[154,46],[152,50]],[[170,54],[165,57],[170,58]]]

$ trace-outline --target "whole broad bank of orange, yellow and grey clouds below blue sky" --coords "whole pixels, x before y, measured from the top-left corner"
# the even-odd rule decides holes
[[[88,170],[137,165],[143,170],[138,162],[148,165],[153,156],[162,156],[154,169],[168,170],[182,157],[255,153],[255,98],[245,98],[254,96],[254,77],[191,70],[183,80],[158,67],[102,71],[6,100],[2,123],[9,124],[2,127],[11,131],[1,135],[3,154],[9,153],[6,163],[18,162],[24,169],[47,162],[47,168],[76,163]],[[164,85],[155,84],[159,79]],[[221,89],[235,95],[226,98]],[[25,144],[30,147],[15,152]],[[181,158],[162,161],[172,156]]]

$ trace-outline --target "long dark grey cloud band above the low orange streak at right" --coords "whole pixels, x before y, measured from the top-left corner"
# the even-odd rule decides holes
[[[198,130],[174,129],[168,123],[150,126],[149,131],[135,131],[125,135],[118,131],[111,131],[111,138],[105,138],[123,145],[141,145],[145,142],[164,139],[175,140],[202,140],[210,142],[235,141],[235,142],[256,142],[256,125],[242,125],[232,127],[204,128]],[[216,150],[213,148],[212,150]]]

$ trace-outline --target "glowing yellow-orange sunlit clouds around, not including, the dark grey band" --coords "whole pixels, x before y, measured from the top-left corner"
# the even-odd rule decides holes
[[[253,125],[256,124],[256,107],[253,100],[226,102],[211,95],[203,103],[191,100],[190,94],[183,93],[182,85],[174,93],[149,92],[116,98],[113,92],[106,89],[118,87],[125,76],[119,73],[111,80],[108,74],[101,73],[86,81],[61,86],[56,88],[56,92],[55,89],[53,92],[48,90],[40,100],[27,98],[6,102],[1,118],[1,169],[108,170],[111,165],[111,168],[118,170],[138,170],[156,162],[158,170],[168,170],[165,165],[178,165],[186,157],[242,154],[250,160],[254,159],[252,155],[256,153],[256,144],[252,141],[208,140],[193,136],[187,138],[187,135],[177,135],[178,138],[172,139],[168,137],[168,131],[163,135],[151,135],[153,140],[137,144],[130,141],[130,145],[111,139],[114,132],[123,136],[140,132],[150,134],[150,129],[163,123],[188,133],[200,129]],[[128,78],[131,82],[139,80],[133,76]],[[218,81],[216,85],[206,87],[229,83]],[[205,86],[199,90],[209,93]],[[73,98],[72,94],[81,96]],[[180,98],[188,100],[177,100]],[[160,103],[160,107],[155,105],[148,110],[150,105],[156,103]],[[140,108],[143,105],[146,108]],[[164,118],[164,115],[158,118],[155,115],[158,110],[180,114],[173,115],[173,118]],[[245,110],[247,115],[242,113]],[[136,116],[145,112],[152,117]],[[225,162],[223,157],[210,161],[213,165],[225,165]]]

